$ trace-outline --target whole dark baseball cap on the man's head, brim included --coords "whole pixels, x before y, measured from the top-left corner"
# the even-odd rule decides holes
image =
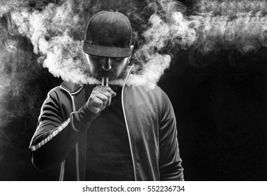
[[[84,52],[95,56],[124,58],[132,54],[132,28],[119,12],[100,11],[89,20],[84,32]]]

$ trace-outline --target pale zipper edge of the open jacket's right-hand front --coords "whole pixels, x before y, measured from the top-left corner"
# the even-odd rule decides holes
[[[129,143],[130,143],[130,152],[131,152],[131,156],[132,156],[132,166],[133,166],[133,169],[134,169],[134,175],[135,175],[135,181],[137,180],[137,176],[136,176],[136,169],[135,169],[135,157],[134,157],[134,154],[133,154],[133,150],[132,150],[132,141],[131,141],[131,138],[130,138],[130,130],[129,130],[129,127],[128,127],[128,122],[127,122],[127,118],[126,118],[126,114],[125,114],[125,107],[124,107],[124,100],[123,100],[123,93],[124,93],[124,87],[125,87],[125,84],[126,84],[126,81],[130,75],[130,72],[133,68],[133,65],[130,67],[130,70],[128,72],[128,75],[123,83],[123,88],[122,88],[122,91],[121,91],[121,104],[122,104],[122,107],[123,107],[123,115],[124,115],[124,119],[125,119],[125,125],[126,125],[126,129],[127,129],[127,133],[128,133],[128,139],[129,139]]]

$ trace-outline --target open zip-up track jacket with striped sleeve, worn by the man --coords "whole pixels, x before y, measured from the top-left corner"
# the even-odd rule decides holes
[[[61,164],[59,180],[84,180],[86,132],[99,115],[84,107],[86,91],[92,90],[64,81],[49,91],[29,146],[37,169]],[[183,180],[176,118],[167,95],[158,86],[131,84],[124,84],[121,94],[135,180]]]

